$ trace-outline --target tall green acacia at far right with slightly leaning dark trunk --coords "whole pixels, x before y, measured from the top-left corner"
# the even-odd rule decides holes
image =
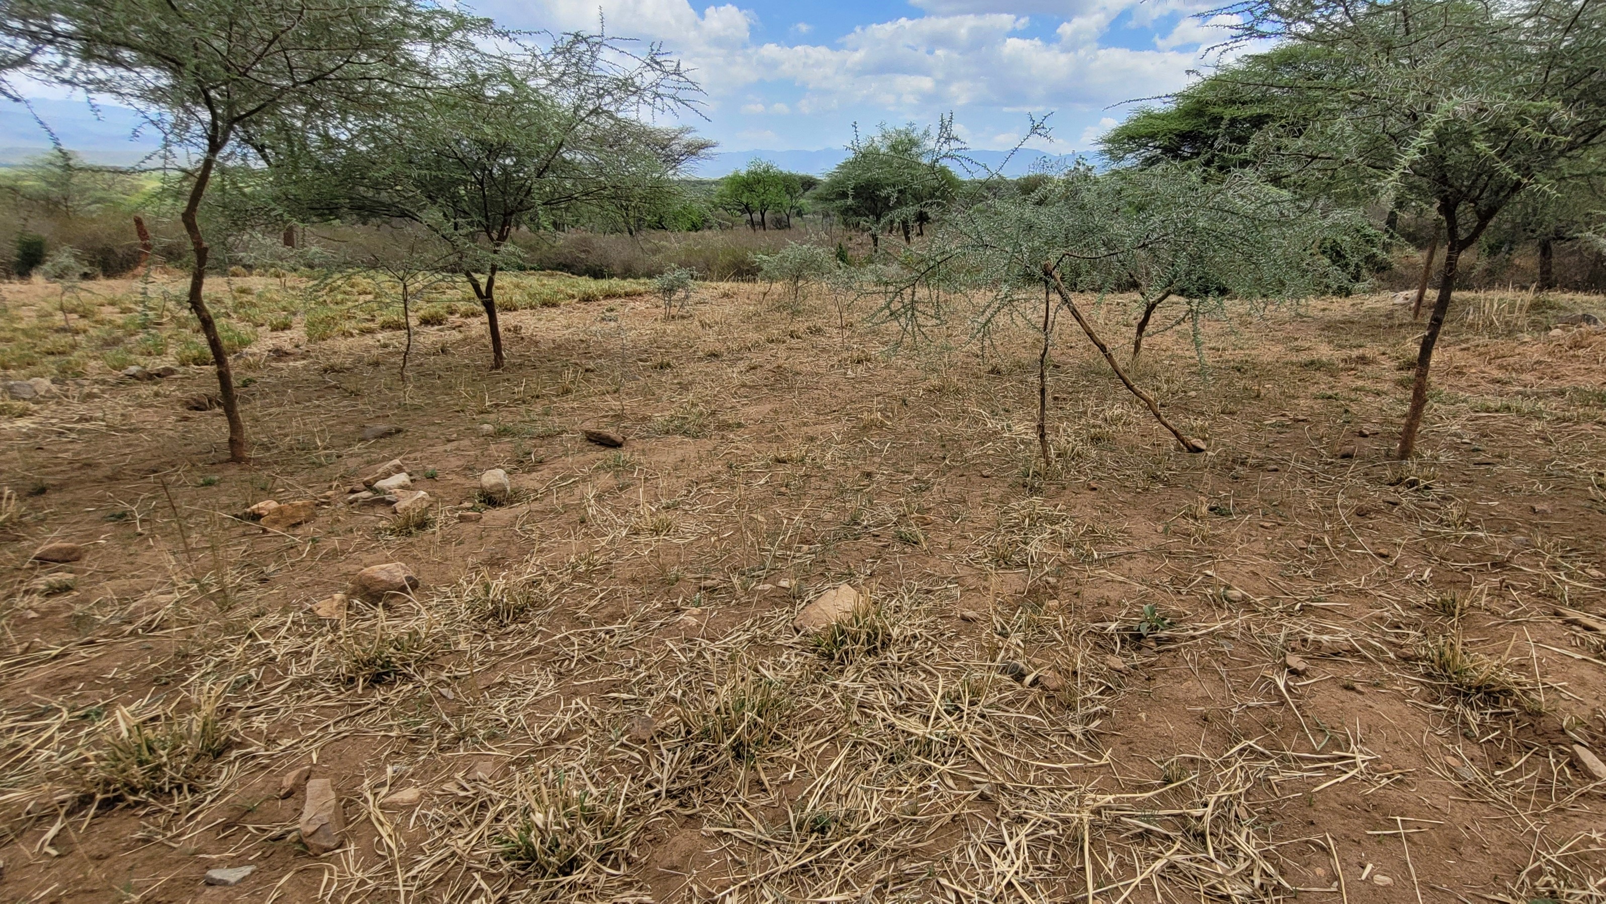
[[[1410,458],[1461,254],[1522,194],[1564,191],[1571,164],[1606,141],[1606,5],[1243,0],[1217,13],[1241,18],[1243,40],[1307,50],[1296,67],[1251,58],[1216,75],[1299,111],[1302,127],[1259,136],[1264,161],[1290,183],[1442,220],[1444,268],[1397,448]]]

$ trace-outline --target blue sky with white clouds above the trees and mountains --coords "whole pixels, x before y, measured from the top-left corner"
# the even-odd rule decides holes
[[[719,151],[842,148],[853,125],[935,122],[952,112],[978,149],[1013,146],[1028,114],[1054,114],[1042,151],[1094,148],[1135,98],[1184,87],[1224,32],[1198,0],[479,0],[509,27],[594,29],[662,42],[695,71],[707,119],[689,120]],[[127,119],[40,95],[69,145],[127,143]],[[0,148],[43,143],[16,104],[0,111]],[[71,138],[69,138],[71,135]]]

